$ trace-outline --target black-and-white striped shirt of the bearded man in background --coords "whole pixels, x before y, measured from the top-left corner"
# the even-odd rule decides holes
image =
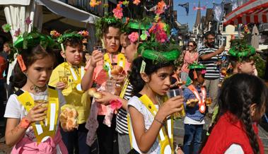
[[[201,57],[204,54],[210,54],[212,52],[216,52],[216,50],[218,50],[218,48],[216,47],[206,47],[206,46],[200,47],[198,51],[199,57]],[[221,55],[216,55],[214,57],[211,57],[211,59],[207,60],[199,59],[200,63],[206,66],[205,79],[214,80],[220,77],[219,66],[216,64],[216,62],[218,62],[219,60],[221,60]]]

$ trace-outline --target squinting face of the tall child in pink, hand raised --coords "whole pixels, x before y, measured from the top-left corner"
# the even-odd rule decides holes
[[[107,52],[117,52],[120,47],[120,29],[109,27],[108,32],[104,35],[104,40]]]

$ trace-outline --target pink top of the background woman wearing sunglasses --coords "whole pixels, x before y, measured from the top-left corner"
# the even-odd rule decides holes
[[[189,73],[188,65],[198,60],[198,52],[185,51],[185,57],[183,59],[182,72]]]

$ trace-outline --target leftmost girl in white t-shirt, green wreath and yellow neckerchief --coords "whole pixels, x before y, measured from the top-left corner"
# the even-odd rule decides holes
[[[9,97],[4,117],[11,153],[68,153],[59,131],[59,111],[65,104],[60,90],[47,86],[53,70],[54,40],[38,32],[14,42],[18,61],[13,78],[20,88]]]

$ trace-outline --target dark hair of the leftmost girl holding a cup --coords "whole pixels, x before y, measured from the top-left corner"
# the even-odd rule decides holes
[[[33,48],[23,49],[21,52],[21,56],[23,58],[23,62],[28,68],[31,66],[37,59],[43,59],[44,57],[51,56],[53,59],[55,57],[52,49],[44,49],[41,45],[37,45]],[[14,67],[14,75],[13,75],[13,86],[16,88],[22,88],[27,82],[27,76],[21,71],[21,67],[18,62]]]

